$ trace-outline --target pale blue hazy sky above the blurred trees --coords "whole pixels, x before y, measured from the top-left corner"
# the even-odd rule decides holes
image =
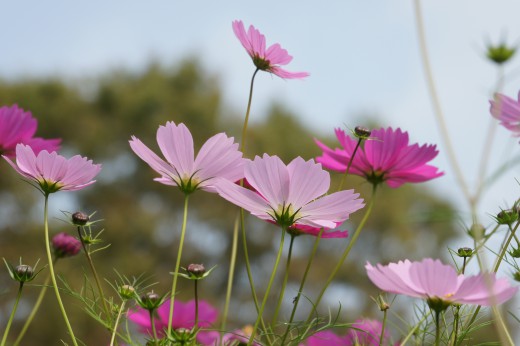
[[[460,206],[460,198],[439,137],[422,70],[412,1],[101,1],[4,2],[0,23],[0,78],[60,75],[81,78],[116,67],[139,69],[151,59],[167,64],[197,55],[217,74],[225,99],[245,108],[253,66],[233,35],[241,19],[279,42],[294,56],[288,69],[308,71],[305,81],[257,78],[253,119],[272,100],[285,102],[315,129],[354,127],[374,114],[385,126],[409,131],[412,141],[437,143],[435,164],[446,176],[428,183]],[[456,155],[465,176],[476,179],[479,153],[489,122],[488,99],[496,71],[484,58],[486,42],[520,42],[520,3],[506,0],[430,0],[423,13],[435,80]],[[504,92],[520,86],[518,59],[506,65]],[[518,154],[518,141],[497,130],[491,165]],[[518,172],[518,168],[515,169]],[[515,172],[484,196],[487,213],[518,196]]]

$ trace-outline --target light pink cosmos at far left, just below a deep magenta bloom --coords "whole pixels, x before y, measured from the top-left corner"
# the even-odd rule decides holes
[[[24,144],[16,146],[16,164],[4,159],[24,178],[36,183],[45,195],[57,191],[75,191],[92,185],[101,165],[79,155],[66,159],[56,152],[41,151],[38,156]]]

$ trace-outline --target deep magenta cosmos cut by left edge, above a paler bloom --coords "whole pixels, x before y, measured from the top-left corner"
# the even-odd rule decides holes
[[[17,105],[0,107],[0,154],[14,157],[19,143],[29,145],[36,154],[42,150],[57,151],[61,140],[33,137],[37,126],[31,112]]]

